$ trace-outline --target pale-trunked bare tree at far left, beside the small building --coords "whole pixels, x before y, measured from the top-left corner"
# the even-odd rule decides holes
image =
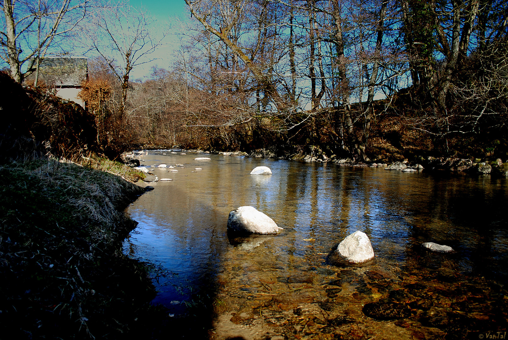
[[[0,57],[14,80],[22,82],[35,72],[45,56],[69,54],[70,36],[86,18],[89,6],[89,0],[0,1],[4,12]]]

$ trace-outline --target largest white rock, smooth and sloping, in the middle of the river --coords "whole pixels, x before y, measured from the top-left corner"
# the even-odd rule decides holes
[[[276,234],[284,229],[255,207],[241,206],[229,213],[228,230],[237,233]]]

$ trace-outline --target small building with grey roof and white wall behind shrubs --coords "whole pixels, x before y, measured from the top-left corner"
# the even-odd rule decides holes
[[[34,81],[36,73],[27,80]],[[39,65],[38,84],[45,84],[48,89],[60,98],[78,103],[83,108],[85,103],[78,98],[81,83],[88,80],[87,58],[44,58]]]

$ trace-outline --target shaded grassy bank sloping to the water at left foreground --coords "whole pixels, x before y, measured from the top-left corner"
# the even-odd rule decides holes
[[[109,161],[87,162],[139,176]],[[56,160],[2,165],[0,180],[0,338],[138,332],[156,312],[148,306],[153,291],[145,267],[121,253],[135,227],[122,210],[144,189]]]

